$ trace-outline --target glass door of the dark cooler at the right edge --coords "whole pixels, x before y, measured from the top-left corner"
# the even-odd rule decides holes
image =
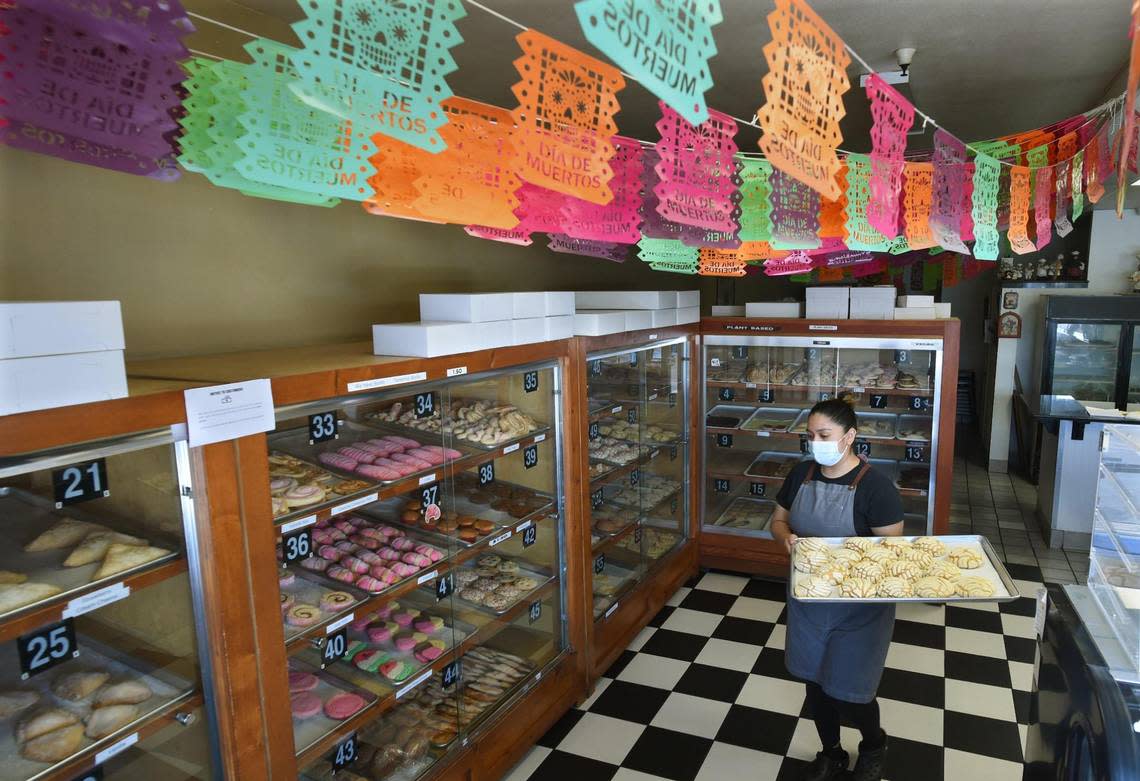
[[[1123,326],[1056,322],[1052,326],[1052,393],[1081,401],[1115,402]]]

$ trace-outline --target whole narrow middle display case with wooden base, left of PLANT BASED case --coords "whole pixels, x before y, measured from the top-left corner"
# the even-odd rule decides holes
[[[694,332],[579,340],[595,676],[695,571],[690,522]]]

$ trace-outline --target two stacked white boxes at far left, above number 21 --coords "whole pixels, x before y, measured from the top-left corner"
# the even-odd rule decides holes
[[[0,301],[0,415],[127,396],[117,301]]]

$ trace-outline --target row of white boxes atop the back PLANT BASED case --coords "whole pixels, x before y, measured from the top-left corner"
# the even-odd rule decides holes
[[[894,285],[808,287],[803,304],[760,301],[744,304],[746,317],[806,317],[809,320],[935,320],[951,316],[933,295],[896,295]]]

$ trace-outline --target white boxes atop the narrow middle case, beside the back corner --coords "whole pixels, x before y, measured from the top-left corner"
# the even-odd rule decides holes
[[[603,336],[701,319],[700,291],[579,291],[573,294],[573,332]]]

